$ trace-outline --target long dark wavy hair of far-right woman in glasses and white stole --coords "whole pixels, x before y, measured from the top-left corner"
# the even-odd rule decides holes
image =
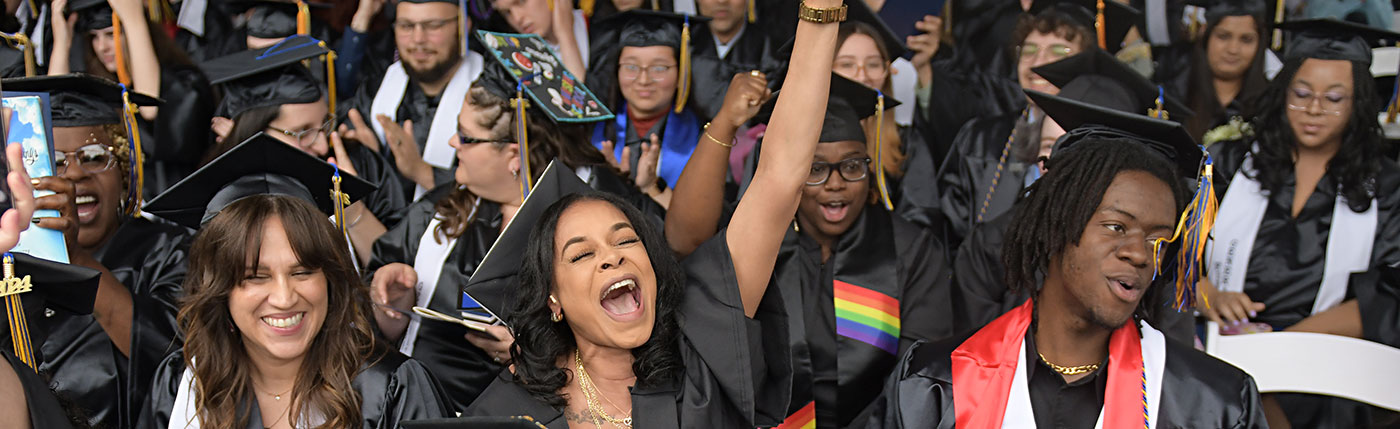
[[[1281,192],[1294,177],[1294,156],[1298,153],[1298,139],[1288,123],[1288,90],[1292,86],[1303,59],[1284,63],[1274,81],[1268,84],[1259,100],[1259,115],[1254,115],[1259,150],[1254,157],[1254,179],[1268,192]],[[1376,174],[1380,172],[1383,133],[1376,112],[1380,111],[1380,95],[1376,81],[1366,64],[1351,63],[1351,116],[1341,135],[1341,147],[1327,163],[1327,174],[1337,181],[1337,193],[1347,199],[1355,212],[1371,207],[1376,196]]]

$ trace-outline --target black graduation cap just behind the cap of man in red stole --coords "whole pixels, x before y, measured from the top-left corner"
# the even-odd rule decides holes
[[[1177,121],[1183,121],[1193,115],[1184,104],[1175,97],[1168,97],[1161,87],[1103,49],[1089,49],[1089,52],[1035,67],[1032,72],[1060,88],[1060,97],[1144,115],[1151,115],[1149,109],[1166,108],[1170,115],[1159,116],[1162,119],[1175,116]]]

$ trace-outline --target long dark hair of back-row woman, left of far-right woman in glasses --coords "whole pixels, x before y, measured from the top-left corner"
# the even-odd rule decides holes
[[[1264,50],[1268,49],[1270,34],[1268,20],[1261,15],[1249,17],[1254,18],[1254,31],[1259,32],[1259,46],[1254,49],[1254,60],[1249,64],[1249,70],[1245,70],[1245,81],[1239,88],[1239,94],[1235,95],[1235,100],[1239,100],[1246,108],[1268,87],[1268,77],[1264,76]],[[1186,104],[1196,115],[1186,119],[1186,123],[1182,125],[1186,126],[1186,132],[1191,137],[1196,137],[1197,142],[1225,114],[1225,107],[1221,107],[1219,98],[1215,97],[1215,76],[1211,73],[1211,66],[1205,55],[1207,45],[1211,42],[1211,34],[1215,32],[1215,27],[1219,27],[1224,18],[1226,17],[1214,17],[1214,20],[1207,21],[1205,32],[1201,34],[1200,39],[1191,48],[1191,69],[1190,80],[1186,84]]]

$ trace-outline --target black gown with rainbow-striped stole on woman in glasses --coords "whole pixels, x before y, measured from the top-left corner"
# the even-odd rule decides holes
[[[879,394],[899,350],[952,335],[942,241],[867,206],[830,264],[790,230],[774,268],[792,350],[785,428],[846,428]],[[813,414],[815,411],[815,414]]]

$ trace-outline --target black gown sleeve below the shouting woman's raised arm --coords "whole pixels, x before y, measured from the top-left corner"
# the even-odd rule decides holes
[[[743,314],[727,236],[715,234],[683,262],[680,421],[686,428],[776,426],[787,416],[792,377],[787,313],[770,285],[755,317]]]

